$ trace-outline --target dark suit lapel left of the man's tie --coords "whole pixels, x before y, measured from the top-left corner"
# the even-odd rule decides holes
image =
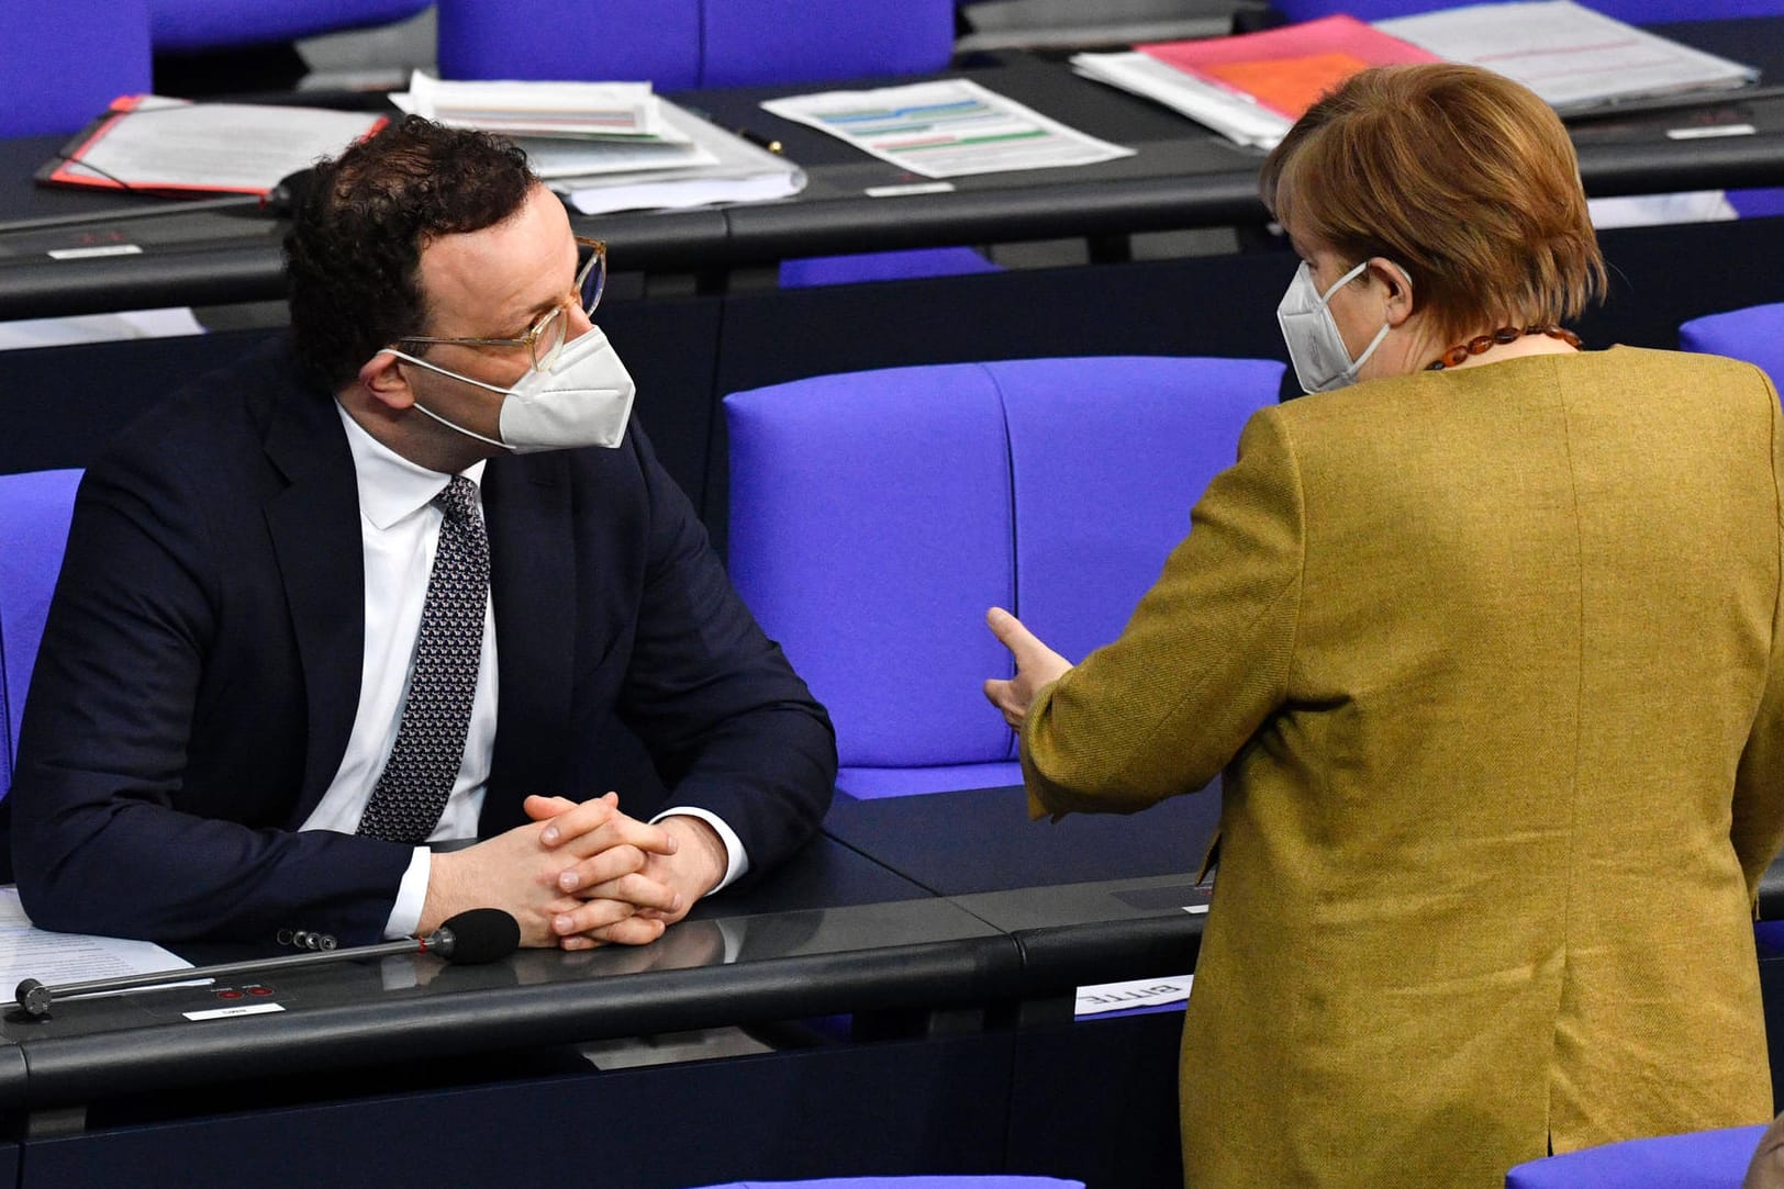
[[[366,567],[359,485],[335,401],[294,385],[284,390],[268,424],[266,455],[285,478],[285,488],[266,501],[266,528],[309,706],[296,824],[328,790],[353,733],[366,652]]]

